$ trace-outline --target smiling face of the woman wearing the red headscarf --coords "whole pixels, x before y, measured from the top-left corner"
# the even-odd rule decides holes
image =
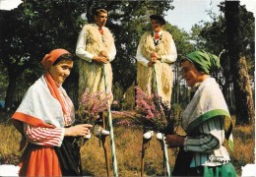
[[[66,78],[70,75],[71,69],[73,68],[73,61],[61,60],[54,66],[49,68],[49,73],[52,79],[58,84],[63,84]]]

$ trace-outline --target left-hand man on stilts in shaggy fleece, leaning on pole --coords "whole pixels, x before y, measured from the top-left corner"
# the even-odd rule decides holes
[[[77,41],[76,55],[81,59],[79,61],[79,98],[85,89],[90,89],[92,92],[105,92],[105,86],[107,86],[106,93],[111,94],[108,101],[111,104],[113,77],[110,62],[116,55],[114,38],[110,30],[105,27],[107,11],[100,8],[94,9],[93,16],[95,23],[85,25]],[[102,77],[103,68],[106,73],[105,79]],[[99,115],[96,124],[102,124],[102,114]],[[109,135],[109,131],[100,126],[96,132],[100,135]]]

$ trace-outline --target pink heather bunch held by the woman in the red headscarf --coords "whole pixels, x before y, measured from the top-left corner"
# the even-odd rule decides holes
[[[91,92],[90,89],[85,89],[79,106],[80,123],[94,123],[99,113],[108,109],[107,100],[110,97],[110,94],[103,91]]]

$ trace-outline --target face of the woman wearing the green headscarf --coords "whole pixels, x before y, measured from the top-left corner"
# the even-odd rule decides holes
[[[202,72],[199,72],[195,65],[189,61],[181,63],[182,78],[186,81],[188,87],[193,87],[196,83],[202,82]]]

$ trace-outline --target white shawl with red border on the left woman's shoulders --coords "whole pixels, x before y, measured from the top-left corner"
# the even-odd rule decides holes
[[[42,76],[28,89],[12,118],[33,126],[60,128],[65,125],[63,117],[59,101],[51,95]]]

